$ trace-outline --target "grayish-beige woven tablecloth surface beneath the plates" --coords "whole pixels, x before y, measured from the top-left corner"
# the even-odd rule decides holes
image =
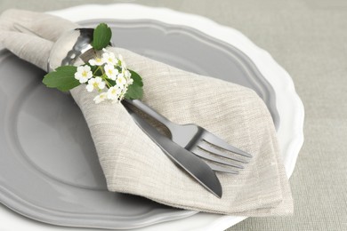
[[[305,142],[290,179],[295,213],[248,218],[228,231],[347,230],[347,1],[1,0],[0,12],[114,3],[167,7],[236,28],[292,76],[305,107]]]

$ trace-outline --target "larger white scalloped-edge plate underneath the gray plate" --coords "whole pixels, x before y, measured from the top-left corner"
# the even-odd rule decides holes
[[[117,12],[117,13],[116,13]],[[254,61],[262,76],[270,82],[276,92],[278,115],[278,139],[283,150],[286,172],[290,176],[295,160],[303,143],[303,105],[295,93],[294,85],[286,72],[280,68],[270,55],[252,44],[239,32],[219,26],[194,15],[173,12],[167,9],[149,8],[133,4],[89,5],[52,12],[63,18],[81,21],[94,19],[160,20],[173,25],[196,28],[207,35],[237,47]],[[212,33],[213,32],[213,33]],[[284,107],[286,105],[286,108]],[[165,222],[141,230],[222,230],[244,218],[198,213],[188,219]],[[27,227],[26,227],[27,228]]]

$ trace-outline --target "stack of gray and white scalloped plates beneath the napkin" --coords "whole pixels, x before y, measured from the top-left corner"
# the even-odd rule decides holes
[[[291,175],[303,144],[302,102],[286,71],[238,31],[199,16],[135,4],[85,5],[51,13],[85,27],[106,22],[116,46],[254,89],[270,110]],[[176,210],[108,192],[73,100],[45,88],[43,71],[4,50],[0,72],[9,82],[0,88],[0,202],[12,210],[67,230],[223,230],[245,219]]]

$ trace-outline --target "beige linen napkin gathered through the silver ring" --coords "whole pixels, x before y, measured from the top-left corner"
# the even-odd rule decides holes
[[[20,33],[14,23],[44,38]],[[45,69],[53,41],[64,30],[77,27],[48,14],[9,10],[1,15],[0,41],[20,58]],[[219,199],[173,164],[121,104],[94,104],[95,95],[81,85],[71,95],[92,133],[109,191],[196,211],[242,216],[293,212],[270,113],[252,90],[125,49],[111,50],[122,54],[127,66],[143,77],[143,101],[149,106],[175,123],[198,123],[254,157],[238,175],[217,173],[223,189]]]

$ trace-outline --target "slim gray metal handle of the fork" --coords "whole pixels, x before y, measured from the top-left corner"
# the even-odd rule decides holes
[[[142,102],[141,100],[126,100],[124,101],[130,105],[133,105],[133,107],[138,108],[143,113],[147,114],[148,116],[152,117],[153,119],[157,120],[159,123],[163,123],[170,131],[174,130],[175,124],[169,121],[165,116],[162,116],[161,114],[157,113],[157,111],[153,108],[150,108],[147,104]]]

